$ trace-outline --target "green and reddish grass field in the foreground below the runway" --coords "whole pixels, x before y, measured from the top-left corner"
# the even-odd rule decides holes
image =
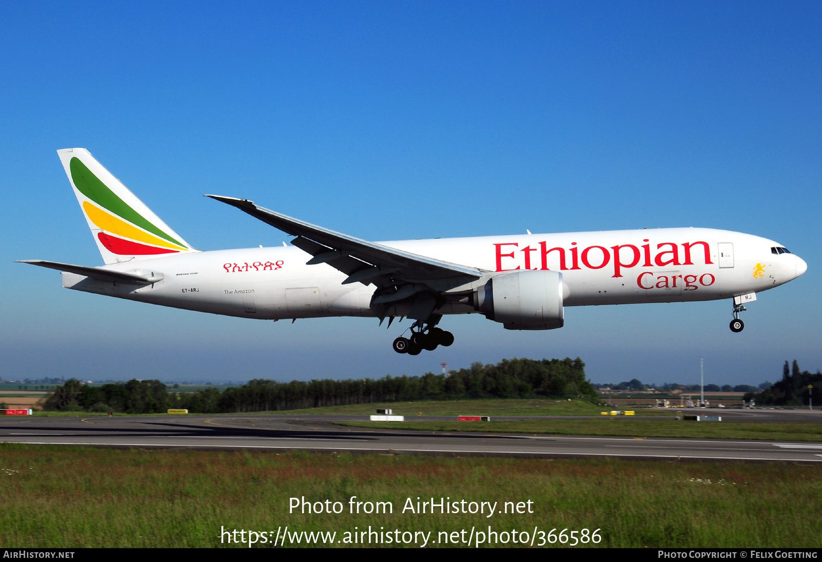
[[[352,495],[394,514],[348,514]],[[289,514],[289,498],[343,514]],[[406,498],[533,514],[402,514]],[[822,470],[791,463],[215,452],[0,445],[0,544],[210,547],[219,531],[600,529],[598,546],[819,547]],[[231,545],[234,546],[234,545]],[[335,545],[343,546],[343,545]],[[431,546],[446,546],[433,544]],[[509,544],[509,546],[511,546]],[[560,546],[560,545],[556,545]],[[590,545],[589,545],[590,546]],[[265,548],[266,546],[261,546]]]

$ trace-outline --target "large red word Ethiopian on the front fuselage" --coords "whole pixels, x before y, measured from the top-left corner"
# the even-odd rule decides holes
[[[610,265],[612,277],[622,277],[624,269],[633,267],[667,267],[672,265],[713,265],[708,242],[659,242],[652,245],[648,238],[644,244],[618,244],[617,246],[587,246],[580,248],[576,242],[570,247],[549,248],[547,242],[534,247],[520,248],[519,242],[494,244],[496,271],[517,269],[603,269]],[[656,246],[653,250],[651,246]],[[517,253],[521,256],[518,257]],[[696,261],[696,263],[694,263]],[[516,265],[516,267],[513,267]]]

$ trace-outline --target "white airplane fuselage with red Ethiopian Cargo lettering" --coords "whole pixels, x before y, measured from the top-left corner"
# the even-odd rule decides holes
[[[419,256],[485,269],[561,271],[565,306],[686,302],[760,293],[797,278],[806,264],[773,253],[777,242],[710,228],[661,228],[381,242]],[[330,265],[294,246],[195,251],[104,269],[162,275],[153,285],[63,273],[63,286],[193,311],[263,320],[374,316],[374,286],[342,284]],[[436,312],[474,312],[446,303]],[[395,311],[397,316],[402,311]]]

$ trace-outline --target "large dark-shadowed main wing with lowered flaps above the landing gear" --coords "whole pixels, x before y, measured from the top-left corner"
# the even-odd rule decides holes
[[[482,269],[418,256],[409,251],[337,233],[265,209],[246,199],[214,195],[206,197],[237,207],[284,233],[296,236],[291,243],[314,256],[307,264],[327,263],[339,269],[349,276],[343,283],[374,283],[378,288],[411,283],[427,285],[441,292],[481,279],[485,273]],[[406,289],[405,293],[409,290]]]

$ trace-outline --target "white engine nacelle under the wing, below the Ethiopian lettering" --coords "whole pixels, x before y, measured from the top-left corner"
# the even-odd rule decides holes
[[[505,329],[555,329],[565,323],[562,274],[516,271],[496,275],[473,295],[474,308]]]

